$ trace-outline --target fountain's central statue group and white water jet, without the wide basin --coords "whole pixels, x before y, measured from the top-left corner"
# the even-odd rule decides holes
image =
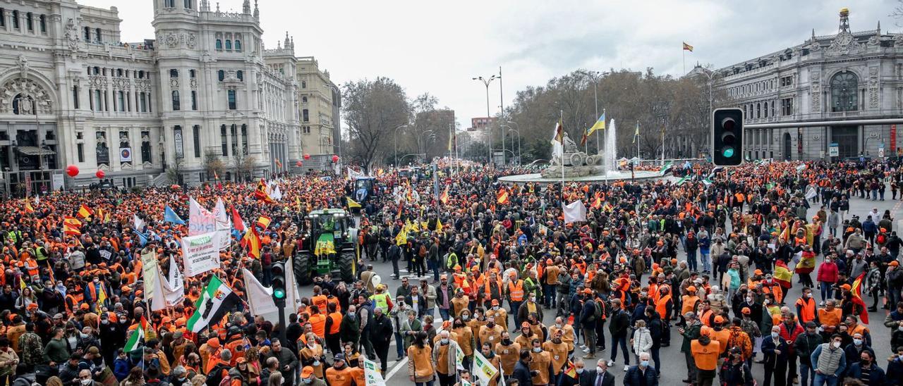
[[[553,141],[553,156],[550,165],[540,174],[544,179],[577,178],[587,176],[606,176],[615,167],[614,120],[606,130],[606,149],[599,154],[589,155],[581,152],[577,143],[573,142],[565,132],[563,143]],[[611,143],[610,143],[611,142]]]

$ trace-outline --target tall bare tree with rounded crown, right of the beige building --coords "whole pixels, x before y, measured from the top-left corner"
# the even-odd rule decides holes
[[[362,79],[345,84],[342,97],[350,156],[369,171],[379,154],[391,149],[395,128],[411,120],[405,89],[390,78]]]

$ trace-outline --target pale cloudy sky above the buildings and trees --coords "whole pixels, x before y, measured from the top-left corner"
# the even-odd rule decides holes
[[[124,41],[153,38],[151,0],[78,0],[116,5]],[[178,0],[177,0],[178,1]],[[252,0],[253,1],[253,0]],[[211,0],[215,6],[215,0]],[[240,10],[242,0],[221,0]],[[729,66],[837,32],[837,12],[851,11],[853,31],[903,32],[889,16],[897,0],[259,0],[267,48],[285,32],[295,54],[315,56],[336,83],[385,76],[409,97],[429,92],[455,110],[461,127],[486,115],[485,88],[502,66],[504,100],[573,69],[646,69],[680,75],[681,41],[699,61]],[[499,106],[498,83],[489,111]]]

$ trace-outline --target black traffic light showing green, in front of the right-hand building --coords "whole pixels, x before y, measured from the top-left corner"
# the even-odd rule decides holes
[[[743,163],[743,110],[719,108],[712,112],[712,161],[718,166]]]

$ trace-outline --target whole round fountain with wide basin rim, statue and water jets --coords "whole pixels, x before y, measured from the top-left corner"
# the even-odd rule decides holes
[[[552,160],[539,173],[501,177],[507,183],[555,183],[565,181],[617,181],[621,179],[656,179],[664,177],[661,171],[620,170],[618,168],[617,129],[612,119],[605,129],[605,146],[599,154],[581,152],[565,132],[563,143],[552,141]]]

